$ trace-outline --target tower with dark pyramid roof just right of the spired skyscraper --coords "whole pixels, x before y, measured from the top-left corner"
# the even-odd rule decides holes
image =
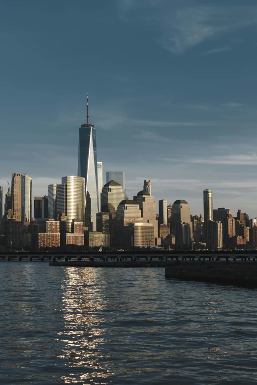
[[[124,201],[124,191],[121,184],[114,180],[110,180],[102,188],[101,212],[109,213],[109,231],[111,243],[115,237],[114,220],[116,218],[116,211],[121,201]]]

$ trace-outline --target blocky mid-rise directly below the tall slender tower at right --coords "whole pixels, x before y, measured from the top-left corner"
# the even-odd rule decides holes
[[[223,225],[222,222],[203,222],[203,238],[208,250],[218,250],[223,247]]]

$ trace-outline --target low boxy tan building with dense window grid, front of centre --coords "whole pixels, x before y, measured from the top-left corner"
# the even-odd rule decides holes
[[[155,236],[152,223],[130,223],[128,225],[132,236],[133,247],[154,247]],[[129,245],[128,245],[129,246]]]

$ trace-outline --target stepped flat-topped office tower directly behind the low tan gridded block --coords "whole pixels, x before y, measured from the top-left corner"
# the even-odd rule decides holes
[[[133,244],[133,231],[129,228],[130,224],[143,223],[141,210],[136,201],[124,200],[122,201],[116,213],[115,219],[115,244],[126,248]]]

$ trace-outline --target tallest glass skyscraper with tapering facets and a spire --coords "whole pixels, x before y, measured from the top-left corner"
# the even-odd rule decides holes
[[[87,122],[82,124],[79,129],[78,176],[85,179],[85,218],[91,219],[92,230],[96,231],[96,214],[100,211],[98,203],[96,128],[94,124],[89,123],[88,97]]]

